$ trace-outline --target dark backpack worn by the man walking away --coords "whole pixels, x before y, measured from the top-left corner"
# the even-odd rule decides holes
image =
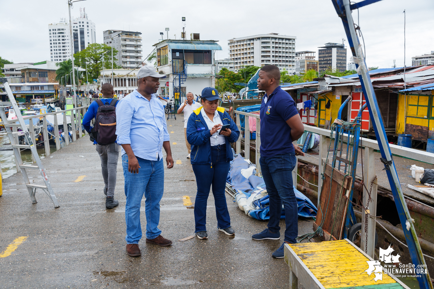
[[[95,116],[95,126],[91,130],[92,138],[99,145],[105,146],[116,140],[116,103],[113,99],[109,105],[104,105],[100,99],[95,100],[99,105]]]

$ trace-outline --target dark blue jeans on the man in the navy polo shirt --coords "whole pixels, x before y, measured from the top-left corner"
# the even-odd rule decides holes
[[[293,187],[292,171],[296,166],[293,153],[262,157],[259,159],[262,176],[270,196],[270,220],[268,229],[280,231],[279,221],[282,215],[282,203],[285,207],[285,241],[295,244],[298,235],[298,205]]]

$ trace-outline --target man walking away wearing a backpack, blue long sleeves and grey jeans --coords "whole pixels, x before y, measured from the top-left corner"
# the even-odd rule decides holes
[[[102,178],[104,179],[105,208],[115,208],[119,202],[114,198],[116,186],[116,171],[120,148],[116,143],[116,110],[117,99],[113,99],[113,85],[102,84],[102,97],[90,104],[83,117],[83,127],[89,133],[91,141],[101,158]],[[95,127],[90,121],[95,118]]]

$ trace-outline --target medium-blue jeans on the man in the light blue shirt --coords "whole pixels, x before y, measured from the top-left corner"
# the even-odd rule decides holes
[[[141,239],[140,205],[145,193],[146,238],[154,239],[161,234],[160,200],[164,190],[163,160],[150,161],[137,158],[140,168],[137,174],[128,172],[128,156],[122,155],[122,168],[125,178],[125,222],[127,224],[127,244],[138,244]]]

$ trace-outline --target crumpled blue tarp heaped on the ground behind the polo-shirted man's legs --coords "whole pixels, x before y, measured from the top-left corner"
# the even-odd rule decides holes
[[[244,211],[247,212],[246,214],[249,214],[250,217],[258,220],[268,220],[270,218],[270,209],[268,205],[270,200],[268,194],[266,194],[264,191],[266,190],[266,186],[263,178],[256,175],[250,175],[248,178],[246,178],[241,173],[242,169],[248,169],[251,166],[254,165],[246,162],[242,156],[237,156],[231,162],[227,182],[229,182],[230,185],[232,185],[232,188],[237,192],[237,203],[239,201],[246,202],[251,195],[255,195],[255,198],[252,197],[253,199],[250,200],[250,203],[247,200],[247,203],[244,206],[242,206],[241,203],[238,203],[240,208],[243,207]],[[299,192],[296,187],[294,187],[294,193],[296,195],[298,204],[298,215],[301,217],[315,217],[317,208],[312,201]],[[245,195],[245,197],[243,195]],[[282,216],[280,218],[285,218],[284,210],[282,211]]]

